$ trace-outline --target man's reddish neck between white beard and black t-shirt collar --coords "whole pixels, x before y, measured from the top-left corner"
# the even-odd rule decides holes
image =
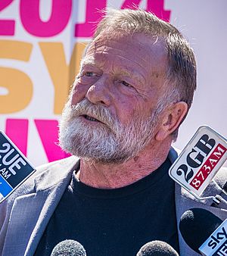
[[[171,142],[165,145],[148,145],[123,164],[103,164],[81,159],[79,180],[100,189],[116,189],[135,183],[163,164],[170,145]]]

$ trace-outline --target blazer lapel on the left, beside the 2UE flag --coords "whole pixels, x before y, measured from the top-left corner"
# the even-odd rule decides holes
[[[49,219],[70,183],[73,170],[79,167],[79,161],[75,159],[68,158],[67,164],[55,165],[53,170],[49,168],[36,177],[33,193],[15,199],[3,255],[28,256],[35,253]]]

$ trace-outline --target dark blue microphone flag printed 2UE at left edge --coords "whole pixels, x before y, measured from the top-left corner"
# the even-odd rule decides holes
[[[33,165],[0,131],[0,203],[34,172]]]

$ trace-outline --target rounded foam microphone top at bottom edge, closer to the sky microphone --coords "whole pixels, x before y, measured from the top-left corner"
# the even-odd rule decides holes
[[[155,240],[141,247],[136,256],[179,256],[173,247],[166,242]]]

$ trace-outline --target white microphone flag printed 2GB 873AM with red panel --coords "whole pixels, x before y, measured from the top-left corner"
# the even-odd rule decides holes
[[[169,169],[169,176],[200,197],[227,158],[227,140],[201,126]]]

